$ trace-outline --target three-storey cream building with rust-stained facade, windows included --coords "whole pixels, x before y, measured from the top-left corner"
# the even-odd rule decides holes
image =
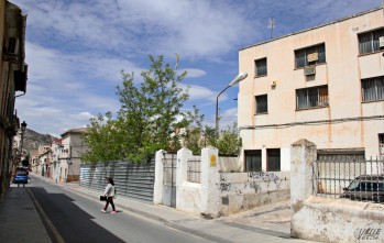
[[[380,8],[240,49],[244,170],[289,170],[300,139],[319,156],[384,155],[382,36]]]

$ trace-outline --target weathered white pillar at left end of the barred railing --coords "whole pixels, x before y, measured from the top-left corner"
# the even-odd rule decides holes
[[[312,194],[311,163],[317,157],[316,144],[299,140],[290,145],[290,203],[301,205]]]

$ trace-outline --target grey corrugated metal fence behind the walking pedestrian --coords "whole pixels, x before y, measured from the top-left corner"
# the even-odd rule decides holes
[[[80,186],[103,191],[106,177],[112,177],[118,195],[152,201],[155,181],[155,162],[134,164],[131,162],[111,162],[81,164]]]

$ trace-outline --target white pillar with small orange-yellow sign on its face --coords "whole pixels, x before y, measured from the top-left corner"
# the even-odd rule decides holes
[[[209,146],[201,151],[201,214],[216,218],[219,214],[220,175],[218,168],[219,153]]]

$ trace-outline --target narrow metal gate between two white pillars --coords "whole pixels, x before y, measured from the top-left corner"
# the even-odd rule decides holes
[[[163,205],[176,208],[176,154],[163,157]]]

